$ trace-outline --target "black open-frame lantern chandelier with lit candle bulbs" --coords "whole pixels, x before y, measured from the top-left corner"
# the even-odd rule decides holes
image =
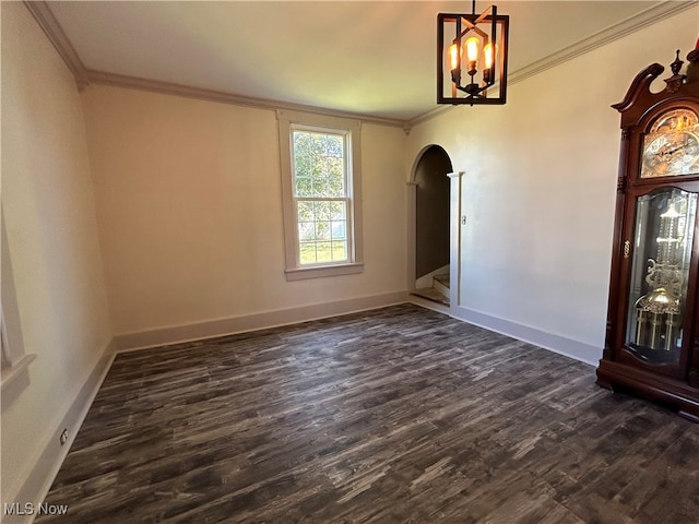
[[[437,104],[506,102],[510,17],[496,5],[475,11],[473,0],[471,14],[437,15]]]

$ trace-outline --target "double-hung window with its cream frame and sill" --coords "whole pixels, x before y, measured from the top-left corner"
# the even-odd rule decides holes
[[[359,122],[279,111],[286,278],[358,273]]]

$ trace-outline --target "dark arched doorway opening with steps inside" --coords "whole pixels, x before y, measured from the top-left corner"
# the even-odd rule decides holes
[[[449,190],[451,159],[438,145],[423,150],[413,183],[414,274],[411,290],[418,297],[449,305]]]

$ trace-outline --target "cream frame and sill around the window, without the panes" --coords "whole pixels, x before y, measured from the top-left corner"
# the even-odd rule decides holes
[[[277,110],[284,247],[287,281],[360,273],[364,271],[362,238],[362,122],[358,120],[300,111]],[[347,179],[347,261],[300,264],[298,217],[294,194],[293,132],[316,131],[345,136]],[[331,200],[331,199],[329,199]]]

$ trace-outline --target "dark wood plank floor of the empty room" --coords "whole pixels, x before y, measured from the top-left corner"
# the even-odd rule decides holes
[[[119,354],[38,523],[699,523],[699,425],[413,305]]]

